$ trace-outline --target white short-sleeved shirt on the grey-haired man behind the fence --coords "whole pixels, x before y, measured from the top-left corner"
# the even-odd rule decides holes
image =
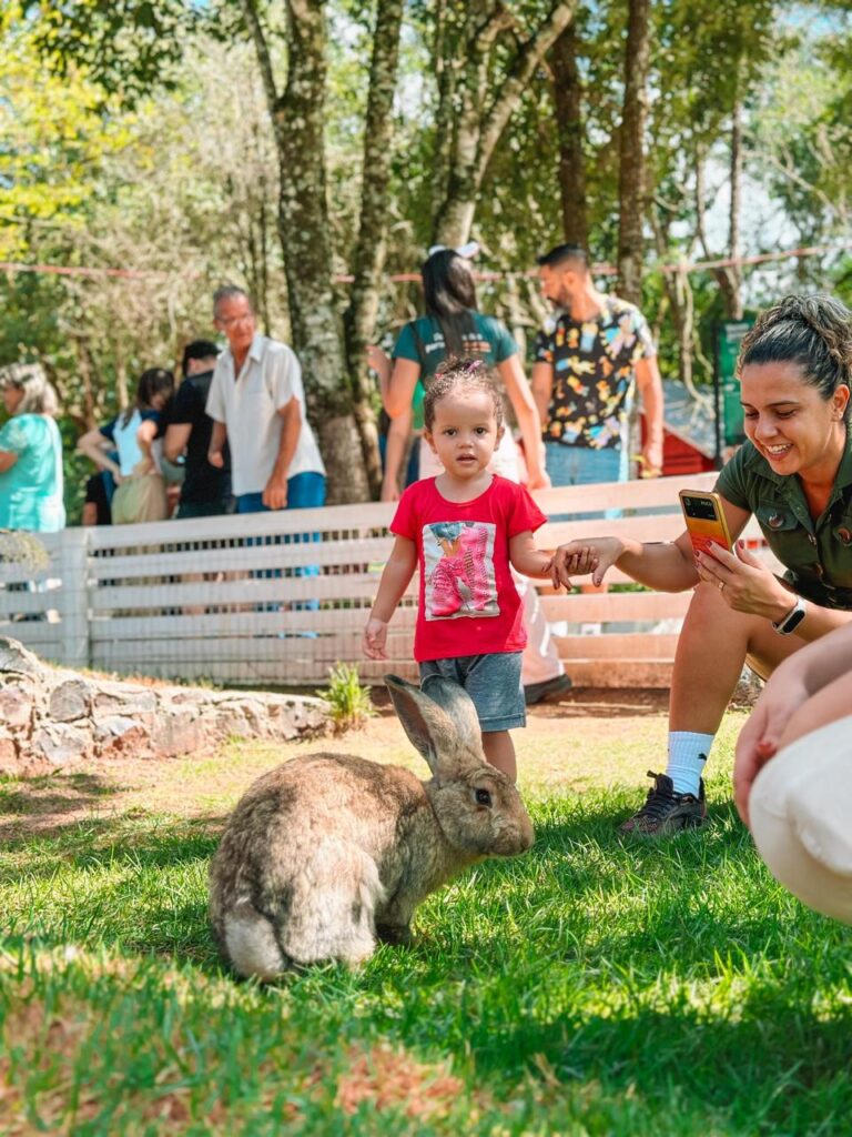
[[[207,413],[227,428],[235,495],[260,493],[266,488],[281,445],[283,420],[278,410],[292,398],[301,406],[302,426],[287,478],[325,474],[308,422],[302,368],[293,350],[257,332],[239,376],[234,375],[231,348],[216,360]]]

